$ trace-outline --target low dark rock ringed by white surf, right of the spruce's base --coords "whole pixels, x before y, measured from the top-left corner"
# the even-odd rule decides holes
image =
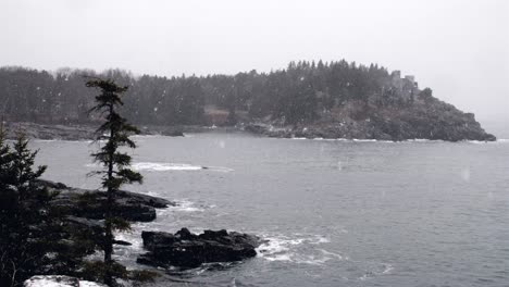
[[[182,228],[175,234],[142,232],[144,247],[149,252],[137,262],[152,266],[198,267],[202,263],[233,262],[257,255],[260,238],[235,232],[204,230],[200,235]]]

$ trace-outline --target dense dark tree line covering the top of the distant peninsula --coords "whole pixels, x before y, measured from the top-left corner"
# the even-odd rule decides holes
[[[290,62],[270,73],[209,76],[134,76],[111,70],[54,73],[22,67],[0,68],[0,113],[9,121],[87,123],[94,105],[84,75],[111,78],[128,90],[121,114],[135,124],[207,124],[206,107],[243,112],[249,118],[313,121],[350,100],[400,104],[401,89],[384,67],[338,62]],[[232,121],[233,122],[233,121]]]

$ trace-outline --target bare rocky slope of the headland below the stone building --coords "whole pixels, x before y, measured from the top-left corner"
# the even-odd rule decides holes
[[[246,130],[270,137],[347,138],[378,140],[496,140],[472,113],[431,96],[417,97],[404,104],[350,101],[310,123],[284,125],[266,121],[246,126]]]

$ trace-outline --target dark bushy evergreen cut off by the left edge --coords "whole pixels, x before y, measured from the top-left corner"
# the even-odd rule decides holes
[[[0,132],[0,286],[21,286],[44,272],[54,248],[47,235],[54,195],[38,183],[46,166],[34,170],[36,155],[23,135],[10,148]]]

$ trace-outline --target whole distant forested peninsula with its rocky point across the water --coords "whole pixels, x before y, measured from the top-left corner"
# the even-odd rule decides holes
[[[0,113],[8,123],[24,122],[34,137],[86,138],[87,127],[99,121],[87,114],[94,92],[84,83],[90,76],[127,86],[120,112],[148,134],[235,126],[272,137],[496,140],[472,113],[436,99],[414,76],[345,60],[290,62],[270,73],[178,77],[8,66],[0,68]],[[55,126],[64,133],[51,132]],[[65,132],[66,126],[77,132]]]

